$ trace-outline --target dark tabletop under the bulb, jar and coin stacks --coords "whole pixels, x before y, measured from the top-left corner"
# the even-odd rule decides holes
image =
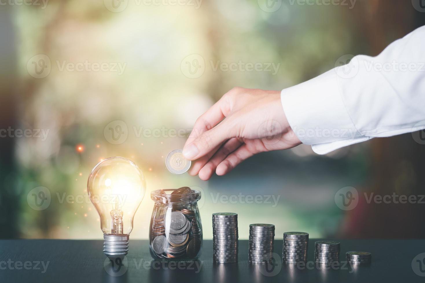
[[[314,258],[310,240],[308,260]],[[161,264],[152,260],[148,242],[130,240],[124,265],[112,266],[102,253],[102,241],[2,240],[0,282],[424,282],[425,240],[342,240],[340,260],[351,250],[372,253],[370,266],[340,264],[329,269],[276,263],[268,269],[247,262],[248,241],[239,241],[239,263],[213,264],[212,241],[204,241],[203,254],[192,264]],[[282,241],[275,241],[279,259]],[[417,257],[419,255],[419,257]],[[416,257],[416,258],[415,258]],[[417,261],[419,260],[419,261]],[[412,267],[412,261],[413,267]],[[422,261],[422,263],[421,263]],[[416,271],[416,272],[415,272]]]

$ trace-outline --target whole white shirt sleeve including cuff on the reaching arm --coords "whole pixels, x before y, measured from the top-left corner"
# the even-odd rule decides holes
[[[425,129],[425,26],[376,57],[282,90],[289,125],[314,152]]]

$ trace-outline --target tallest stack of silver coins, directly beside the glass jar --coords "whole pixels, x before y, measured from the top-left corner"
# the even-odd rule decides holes
[[[238,262],[238,214],[212,213],[212,249],[215,263]]]

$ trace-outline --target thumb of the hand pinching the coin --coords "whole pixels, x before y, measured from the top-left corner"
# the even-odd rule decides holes
[[[184,146],[183,156],[188,160],[195,160],[210,151],[214,150],[215,147],[221,145],[224,141],[232,137],[230,134],[231,129],[228,127],[228,123],[224,119],[220,124],[210,129],[209,131],[203,132],[199,137]]]

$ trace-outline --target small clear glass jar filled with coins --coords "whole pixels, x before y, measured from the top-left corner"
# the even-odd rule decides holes
[[[197,204],[201,192],[183,188],[150,194],[155,206],[150,219],[149,250],[155,260],[194,261],[202,253],[202,224]]]

